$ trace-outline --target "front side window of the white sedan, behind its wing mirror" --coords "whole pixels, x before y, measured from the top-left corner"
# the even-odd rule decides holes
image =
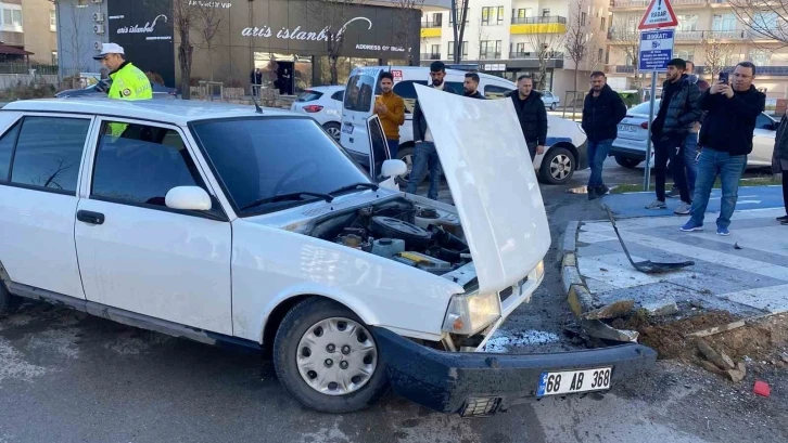
[[[113,126],[124,126],[114,136]],[[180,134],[167,128],[104,122],[96,152],[90,196],[165,207],[176,186],[207,188]]]

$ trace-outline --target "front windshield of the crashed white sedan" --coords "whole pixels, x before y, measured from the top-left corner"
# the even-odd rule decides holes
[[[190,127],[243,216],[320,199],[304,193],[327,194],[354,183],[372,183],[312,118],[206,120]],[[303,196],[271,200],[289,194]],[[260,200],[268,201],[255,205]],[[250,205],[247,210],[239,209]]]

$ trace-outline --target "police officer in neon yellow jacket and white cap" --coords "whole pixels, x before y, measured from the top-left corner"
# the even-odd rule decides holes
[[[93,57],[100,60],[105,68],[110,69],[112,87],[107,96],[122,100],[153,99],[151,80],[145,73],[127,62],[124,50],[117,43],[102,43],[101,54]]]

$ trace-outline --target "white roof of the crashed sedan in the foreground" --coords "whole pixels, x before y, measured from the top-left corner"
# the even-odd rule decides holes
[[[298,114],[278,108],[263,108],[256,114],[252,105],[205,102],[200,100],[115,100],[107,97],[20,100],[3,106],[2,110],[98,114],[143,120],[156,120],[178,126],[190,121],[238,117],[300,117]]]

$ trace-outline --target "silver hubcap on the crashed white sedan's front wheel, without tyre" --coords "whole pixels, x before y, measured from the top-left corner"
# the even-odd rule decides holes
[[[298,341],[296,363],[306,383],[327,395],[361,389],[378,366],[378,349],[360,324],[341,317],[313,325]]]

